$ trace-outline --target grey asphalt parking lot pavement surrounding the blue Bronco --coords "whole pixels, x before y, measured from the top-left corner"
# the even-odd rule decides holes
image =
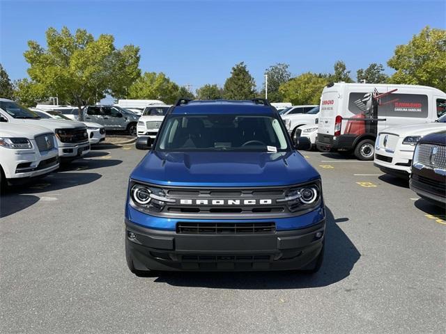
[[[102,145],[0,201],[1,333],[444,333],[444,212],[372,162],[303,152],[328,212],[319,273],[166,273],[124,256],[128,175]]]

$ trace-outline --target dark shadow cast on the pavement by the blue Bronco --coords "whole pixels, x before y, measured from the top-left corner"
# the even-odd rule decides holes
[[[292,271],[166,272],[155,282],[211,289],[302,289],[337,283],[350,275],[361,255],[338,226],[348,222],[348,218],[334,219],[330,209],[326,208],[326,212],[325,258],[321,270],[314,275]]]

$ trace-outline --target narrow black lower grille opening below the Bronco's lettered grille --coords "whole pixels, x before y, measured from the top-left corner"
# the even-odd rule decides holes
[[[266,234],[276,232],[275,223],[182,223],[176,224],[180,234]]]

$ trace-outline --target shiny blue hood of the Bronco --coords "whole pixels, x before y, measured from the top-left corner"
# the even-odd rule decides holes
[[[169,186],[286,186],[320,177],[298,152],[150,151],[130,177]]]

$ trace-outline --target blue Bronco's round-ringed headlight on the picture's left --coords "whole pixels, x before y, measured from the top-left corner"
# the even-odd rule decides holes
[[[166,197],[162,189],[144,184],[133,184],[130,189],[132,206],[142,212],[160,212],[167,202],[174,202]]]

